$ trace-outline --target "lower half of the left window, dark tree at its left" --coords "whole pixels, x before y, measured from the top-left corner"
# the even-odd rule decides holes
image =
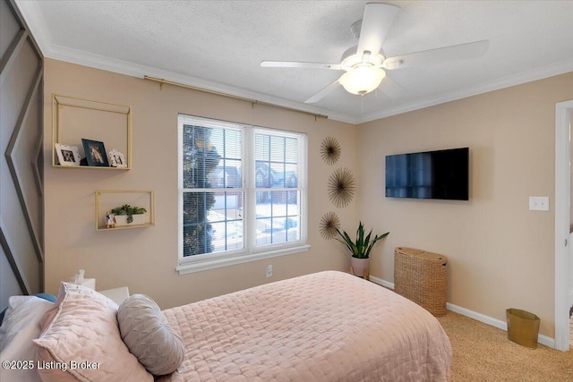
[[[241,191],[184,193],[184,256],[244,247]]]

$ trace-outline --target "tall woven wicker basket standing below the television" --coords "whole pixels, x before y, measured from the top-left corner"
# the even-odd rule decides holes
[[[446,314],[448,258],[438,253],[396,247],[394,292],[421,305],[434,316]]]

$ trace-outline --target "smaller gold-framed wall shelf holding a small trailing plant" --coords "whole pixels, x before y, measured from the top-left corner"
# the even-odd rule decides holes
[[[129,204],[132,207],[147,209],[143,215],[133,215],[128,225],[115,225],[108,228],[106,215],[113,208]],[[116,216],[119,220],[124,216]],[[151,190],[96,191],[96,231],[115,231],[129,228],[142,228],[155,225],[155,192]]]

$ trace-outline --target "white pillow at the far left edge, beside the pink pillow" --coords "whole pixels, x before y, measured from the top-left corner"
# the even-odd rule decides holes
[[[2,369],[7,381],[41,382],[36,371],[36,346],[39,321],[54,303],[35,296],[12,296],[0,327],[0,361],[31,361],[33,369]]]

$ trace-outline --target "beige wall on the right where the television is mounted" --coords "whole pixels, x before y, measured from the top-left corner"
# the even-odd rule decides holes
[[[359,126],[358,216],[390,231],[371,274],[394,279],[396,246],[449,258],[448,301],[505,321],[519,308],[554,334],[555,103],[573,99],[573,72]],[[470,148],[470,200],[384,197],[385,156]],[[551,211],[529,211],[549,196]]]

